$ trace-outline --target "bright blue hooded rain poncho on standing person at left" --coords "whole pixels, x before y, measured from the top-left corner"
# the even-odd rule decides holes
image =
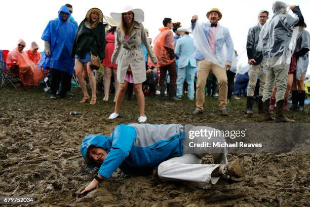
[[[46,26],[42,40],[50,42],[51,55],[45,58],[44,66],[56,68],[59,71],[73,73],[74,58],[70,57],[76,27],[70,21],[63,21],[60,12],[71,14],[66,6],[62,6],[58,12],[58,19],[51,20]]]

